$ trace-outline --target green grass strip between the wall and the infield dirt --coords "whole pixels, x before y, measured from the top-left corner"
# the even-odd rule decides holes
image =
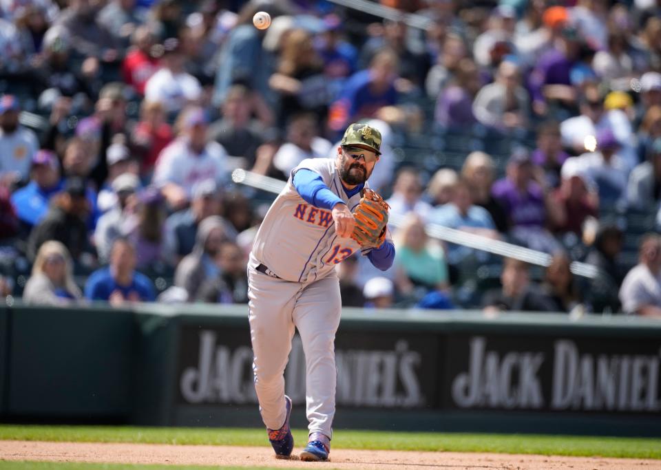
[[[307,432],[294,430],[296,442]],[[0,440],[70,442],[143,442],[190,445],[268,445],[262,429],[175,427],[18,426],[0,425]],[[535,453],[558,456],[601,456],[661,459],[661,439],[521,434],[439,434],[336,430],[335,449],[392,449]]]

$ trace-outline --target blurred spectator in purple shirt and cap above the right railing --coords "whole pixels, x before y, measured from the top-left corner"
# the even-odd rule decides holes
[[[516,242],[547,253],[559,248],[546,228],[559,220],[558,208],[544,178],[536,177],[527,150],[516,149],[512,153],[507,176],[494,183],[492,193],[505,207],[512,227],[510,235]]]

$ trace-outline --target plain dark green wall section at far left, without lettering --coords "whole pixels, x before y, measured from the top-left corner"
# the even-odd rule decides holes
[[[6,413],[37,420],[129,416],[134,330],[127,310],[11,308]]]

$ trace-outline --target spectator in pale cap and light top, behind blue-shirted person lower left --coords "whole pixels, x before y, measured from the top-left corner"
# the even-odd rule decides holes
[[[123,221],[132,212],[130,204],[132,196],[140,188],[140,180],[134,173],[124,173],[116,177],[112,184],[112,194],[116,198],[114,206],[99,217],[94,231],[96,253],[102,263],[108,261],[112,244],[123,235]]]

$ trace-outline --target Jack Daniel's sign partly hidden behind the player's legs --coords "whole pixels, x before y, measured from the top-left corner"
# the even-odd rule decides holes
[[[180,403],[257,403],[253,385],[253,354],[247,335],[236,331],[183,328],[180,337],[178,395]],[[338,334],[335,348],[337,405],[348,407],[416,408],[434,398],[435,348],[425,352],[406,335],[381,334],[363,342],[351,333]],[[425,341],[422,342],[424,344]],[[431,353],[431,354],[430,354]],[[434,361],[434,362],[432,362]],[[286,393],[305,402],[305,359],[300,337],[293,339],[285,371]]]

